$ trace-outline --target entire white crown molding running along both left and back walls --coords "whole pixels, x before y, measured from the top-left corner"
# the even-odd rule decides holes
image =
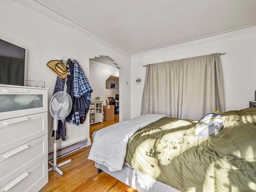
[[[67,28],[75,30],[76,32],[80,33],[81,35],[89,37],[90,39],[95,40],[105,46],[108,46],[108,47],[118,51],[119,53],[122,53],[122,54],[126,55],[127,57],[130,57],[130,58],[131,57],[138,58],[138,57],[143,57],[146,55],[167,52],[170,50],[182,49],[184,47],[207,44],[207,43],[213,42],[213,41],[224,40],[224,39],[247,35],[247,34],[256,32],[256,26],[255,26],[255,24],[253,24],[253,25],[244,26],[244,27],[229,30],[229,31],[224,31],[224,32],[217,33],[217,34],[211,34],[211,35],[196,38],[196,39],[190,39],[187,41],[177,42],[176,44],[172,44],[172,45],[166,45],[163,47],[145,50],[145,51],[141,51],[141,52],[137,52],[137,53],[130,53],[129,51],[125,50],[124,48],[114,44],[114,42],[109,41],[108,39],[105,39],[104,37],[100,36],[96,32],[88,29],[87,27],[76,22],[75,20],[68,17],[67,15],[60,13],[59,11],[55,10],[54,8],[46,5],[45,3],[41,2],[40,0],[33,0],[33,1],[31,1],[31,0],[13,0],[13,2],[16,2],[34,12],[37,12],[38,14],[45,16],[48,19],[51,19],[60,25],[63,25]]]

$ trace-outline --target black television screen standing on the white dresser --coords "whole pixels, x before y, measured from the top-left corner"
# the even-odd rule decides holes
[[[0,84],[24,86],[25,49],[0,39]]]

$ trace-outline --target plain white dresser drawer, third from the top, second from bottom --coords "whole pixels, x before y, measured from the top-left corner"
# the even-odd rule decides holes
[[[48,135],[0,154],[0,186],[22,174],[36,162],[47,157]]]

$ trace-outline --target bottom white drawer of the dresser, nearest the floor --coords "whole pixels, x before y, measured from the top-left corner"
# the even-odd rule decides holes
[[[36,192],[47,183],[48,162],[47,158],[44,158],[3,187],[0,187],[0,192]]]

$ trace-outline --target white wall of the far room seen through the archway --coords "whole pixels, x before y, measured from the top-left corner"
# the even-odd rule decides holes
[[[103,63],[90,60],[90,83],[93,88],[92,99],[99,96],[100,100],[103,100],[103,104],[105,104],[108,96],[113,95],[116,91],[118,93],[118,87],[117,89],[106,89],[106,80],[110,75],[119,77],[119,70]]]

